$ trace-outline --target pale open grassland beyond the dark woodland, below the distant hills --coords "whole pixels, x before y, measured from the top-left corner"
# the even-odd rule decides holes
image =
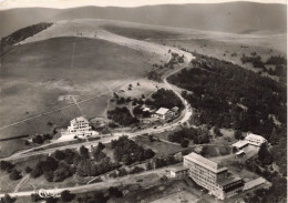
[[[104,27],[106,30],[127,38],[145,40],[148,42],[160,43],[163,45],[176,47],[189,51],[215,57],[233,63],[239,64],[248,70],[256,72],[261,71],[254,68],[250,63],[243,64],[241,55],[250,55],[256,52],[266,61],[270,55],[286,55],[286,34],[233,34],[208,31],[196,31],[185,29],[172,29],[163,27],[162,30],[156,27]],[[166,33],[166,34],[164,34]],[[268,65],[266,67],[268,68]],[[269,67],[275,69],[275,67]],[[261,73],[267,75],[267,73]],[[278,80],[277,77],[271,77]]]

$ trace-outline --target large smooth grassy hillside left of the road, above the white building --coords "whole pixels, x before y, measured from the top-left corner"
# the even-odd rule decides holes
[[[0,125],[71,104],[59,101],[60,95],[78,95],[81,102],[109,93],[110,89],[144,77],[152,68],[148,59],[153,57],[102,40],[56,38],[18,45],[1,58]],[[106,105],[103,98],[81,103],[89,118],[101,116],[99,110]],[[37,120],[29,122],[41,122]],[[1,129],[0,138],[33,132],[11,129]]]

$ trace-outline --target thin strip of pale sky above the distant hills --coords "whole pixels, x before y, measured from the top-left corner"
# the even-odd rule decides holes
[[[73,8],[84,6],[99,7],[141,7],[153,4],[182,4],[182,3],[219,3],[240,0],[0,0],[0,10],[11,8],[44,7],[44,8]],[[263,3],[286,3],[287,0],[251,0]]]

